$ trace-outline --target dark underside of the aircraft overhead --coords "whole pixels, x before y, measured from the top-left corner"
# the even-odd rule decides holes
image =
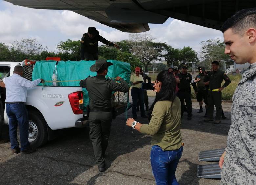
[[[255,0],[5,0],[35,9],[70,10],[123,32],[144,32],[169,17],[220,30],[236,11]]]

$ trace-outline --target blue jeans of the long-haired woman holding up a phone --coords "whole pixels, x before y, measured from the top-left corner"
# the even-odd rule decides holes
[[[183,146],[177,150],[166,151],[157,145],[152,146],[150,161],[157,185],[179,184],[175,177],[175,171],[182,152]]]

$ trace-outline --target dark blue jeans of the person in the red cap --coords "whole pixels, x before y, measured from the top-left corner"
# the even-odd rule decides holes
[[[145,116],[146,112],[144,109],[144,96],[143,96],[143,90],[140,88],[133,87],[131,89],[131,95],[133,99],[133,116],[137,116],[136,109],[137,109],[137,100],[139,99],[139,105],[140,105],[140,115]]]

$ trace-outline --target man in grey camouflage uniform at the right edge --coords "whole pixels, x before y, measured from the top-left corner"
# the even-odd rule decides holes
[[[223,24],[225,53],[237,64],[250,63],[231,108],[227,147],[219,166],[221,184],[256,184],[256,8],[243,9]]]

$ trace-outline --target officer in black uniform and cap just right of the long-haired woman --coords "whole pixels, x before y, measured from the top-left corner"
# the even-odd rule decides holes
[[[190,83],[192,84],[192,87],[196,93],[197,86],[195,83],[195,80],[192,78],[191,74],[187,72],[187,66],[182,67],[182,73],[178,74],[178,77],[180,79],[179,83],[179,91],[177,93],[177,96],[179,97],[181,101],[181,105],[184,104],[184,99],[186,101],[187,105],[187,119],[191,120],[192,116],[192,101],[191,101],[191,88]],[[181,117],[183,116],[184,107],[181,106]]]

